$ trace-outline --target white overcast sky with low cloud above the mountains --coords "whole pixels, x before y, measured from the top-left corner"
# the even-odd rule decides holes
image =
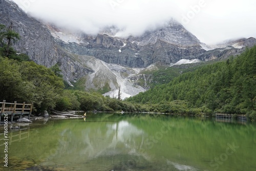
[[[96,34],[115,25],[140,35],[175,18],[206,44],[256,37],[255,0],[13,0],[34,17]]]

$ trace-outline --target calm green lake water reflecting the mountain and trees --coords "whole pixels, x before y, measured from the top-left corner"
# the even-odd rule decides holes
[[[255,124],[91,114],[23,128],[0,170],[256,170]]]

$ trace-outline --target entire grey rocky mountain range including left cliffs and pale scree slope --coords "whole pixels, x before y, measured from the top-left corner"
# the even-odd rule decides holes
[[[156,64],[168,67],[193,59],[225,58],[256,44],[251,37],[207,46],[174,19],[137,37],[122,37],[122,30],[115,26],[89,35],[40,22],[14,2],[0,0],[0,24],[11,23],[20,34],[14,45],[17,51],[39,65],[58,63],[63,78],[71,85],[83,79],[85,89],[105,89],[109,91],[105,95],[111,97],[117,95],[119,86],[123,97],[145,91],[148,87],[143,71],[157,70]]]

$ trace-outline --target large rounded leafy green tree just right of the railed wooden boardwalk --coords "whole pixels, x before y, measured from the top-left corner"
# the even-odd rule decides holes
[[[19,72],[24,80],[31,83],[31,95],[27,99],[34,102],[38,112],[54,108],[64,88],[63,80],[33,61],[22,62]]]

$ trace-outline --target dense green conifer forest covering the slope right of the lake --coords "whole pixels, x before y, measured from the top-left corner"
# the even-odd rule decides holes
[[[256,47],[225,62],[201,66],[127,101],[166,113],[256,115]]]

